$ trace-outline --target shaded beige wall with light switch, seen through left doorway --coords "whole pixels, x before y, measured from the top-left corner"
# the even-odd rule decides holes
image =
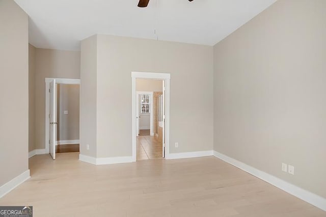
[[[79,139],[79,85],[58,84],[58,140]],[[68,111],[68,114],[64,114]]]

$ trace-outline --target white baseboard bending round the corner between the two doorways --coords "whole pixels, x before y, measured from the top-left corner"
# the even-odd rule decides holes
[[[132,156],[128,157],[114,157],[114,158],[94,158],[79,154],[79,161],[84,161],[94,165],[105,165],[105,164],[121,164],[133,162]]]

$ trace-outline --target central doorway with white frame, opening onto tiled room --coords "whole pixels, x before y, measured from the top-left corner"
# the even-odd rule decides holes
[[[170,74],[132,72],[133,161],[167,158]]]

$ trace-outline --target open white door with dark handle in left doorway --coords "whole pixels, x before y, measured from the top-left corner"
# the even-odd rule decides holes
[[[50,154],[53,160],[56,159],[56,141],[57,141],[57,85],[56,79],[50,83]]]

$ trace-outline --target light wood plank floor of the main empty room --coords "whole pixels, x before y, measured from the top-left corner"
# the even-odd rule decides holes
[[[217,158],[95,166],[78,153],[30,159],[32,177],[0,205],[33,206],[38,216],[326,216]]]

